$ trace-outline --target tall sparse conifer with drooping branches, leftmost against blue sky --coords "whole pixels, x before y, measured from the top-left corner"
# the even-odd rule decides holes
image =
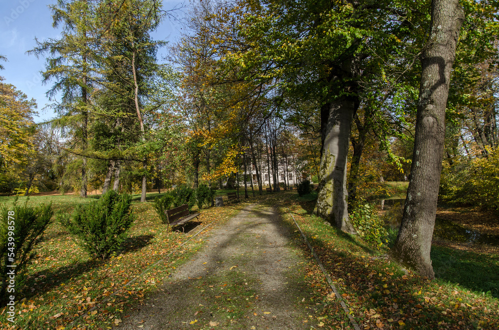
[[[50,5],[53,26],[62,27],[59,39],[48,39],[28,51],[37,57],[48,53],[43,83],[54,81],[47,92],[51,100],[62,93],[55,104],[59,115],[66,117],[66,124],[72,122],[78,127],[80,153],[88,147],[89,97],[95,71],[94,51],[98,40],[94,28],[94,0],[57,0]],[[82,157],[80,196],[87,196],[87,158]]]

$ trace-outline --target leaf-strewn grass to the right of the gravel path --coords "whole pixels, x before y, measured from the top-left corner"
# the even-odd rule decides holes
[[[444,325],[459,323],[459,329],[499,329],[498,256],[434,246],[437,279],[429,281],[412,272],[406,275],[386,258],[387,247],[376,251],[358,237],[324,225],[311,214],[312,196],[276,204],[283,214],[294,215],[363,327],[378,329],[381,322],[389,329],[458,329]]]

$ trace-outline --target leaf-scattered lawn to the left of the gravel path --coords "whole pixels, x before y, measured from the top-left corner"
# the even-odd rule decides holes
[[[148,193],[148,200],[157,195]],[[140,195],[136,196],[140,198]],[[71,212],[75,205],[95,200],[96,197],[32,196],[28,204],[51,202],[55,210]],[[0,202],[9,205],[13,200],[14,197],[1,197]],[[21,197],[18,203],[25,200]],[[137,220],[129,232],[129,238],[116,256],[106,260],[89,257],[58,222],[49,225],[42,241],[33,250],[34,257],[28,265],[24,285],[16,284],[16,312],[20,312],[16,314],[16,329],[57,329],[61,326],[69,329],[68,324],[93,306],[87,303],[106,299],[147,270],[137,283],[127,287],[127,291],[114,296],[104,311],[99,309],[96,315],[78,319],[78,329],[107,329],[115,318],[121,318],[122,313],[134,308],[144,295],[155,290],[161,278],[168,278],[175,268],[187,262],[203,246],[203,241],[195,240],[183,248],[183,253],[166,258],[189,235],[167,231],[167,226],[160,223],[152,202],[134,201],[132,205]],[[203,224],[212,220],[223,222],[238,211],[235,208],[203,209],[201,221]],[[164,262],[152,267],[160,260]],[[60,312],[65,313],[58,315]],[[54,318],[54,315],[58,316]],[[9,325],[5,311],[0,311],[0,323],[2,329]]]

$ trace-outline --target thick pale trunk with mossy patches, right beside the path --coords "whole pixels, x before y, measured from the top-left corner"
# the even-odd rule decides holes
[[[348,218],[346,173],[350,129],[358,98],[342,97],[321,108],[322,152],[314,213],[344,232],[355,234]]]

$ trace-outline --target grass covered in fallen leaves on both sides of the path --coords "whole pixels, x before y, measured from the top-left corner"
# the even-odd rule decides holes
[[[40,198],[67,210],[75,203],[86,202],[59,197],[64,198]],[[2,198],[1,202],[5,201]],[[280,193],[259,202],[262,206],[278,205],[283,225],[294,235],[294,248],[309,254],[289,213],[294,215],[361,329],[499,329],[498,296],[492,290],[485,291],[483,285],[490,282],[490,288],[497,287],[497,255],[434,246],[432,257],[440,277],[429,281],[391,263],[386,251],[372,250],[310,215],[311,198]],[[202,210],[201,225],[213,224],[177,249],[202,227],[189,234],[167,232],[152,203],[134,203],[138,220],[130,239],[118,255],[104,261],[89,258],[64,228],[53,223],[34,251],[26,289],[16,291],[16,297],[24,297],[16,302],[16,323],[6,322],[5,310],[0,312],[3,329],[119,329],[134,310],[158,294],[158,287],[170,281],[179,267],[206,247],[212,226],[222,226],[245,205],[231,203]],[[470,267],[468,272],[484,270],[483,274],[467,278],[456,269],[463,265]],[[320,313],[312,315],[312,328],[353,329],[331,297],[317,265],[307,262],[301,276],[313,305],[321,307]],[[231,290],[236,296],[246,294],[245,286],[235,285]],[[217,322],[213,329],[238,329],[231,323]],[[137,324],[137,329],[143,328],[140,326]],[[212,328],[201,328],[199,322],[185,325],[185,329]]]

